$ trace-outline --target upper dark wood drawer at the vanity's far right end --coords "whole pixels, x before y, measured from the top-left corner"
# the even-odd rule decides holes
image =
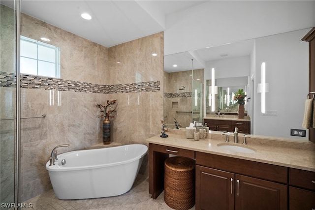
[[[290,185],[315,190],[315,172],[290,168]]]

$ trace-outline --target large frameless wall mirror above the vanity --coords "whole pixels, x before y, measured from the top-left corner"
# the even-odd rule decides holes
[[[247,93],[245,109],[251,120],[252,134],[307,142],[308,131],[306,137],[295,137],[290,136],[290,129],[303,129],[304,103],[308,93],[309,47],[301,38],[310,30],[290,31],[165,56],[165,122],[172,128],[176,119],[186,127],[189,122],[202,121],[207,115],[215,114],[218,108],[221,112],[227,111],[227,105],[224,104],[227,88],[232,92],[242,88]],[[262,63],[265,63],[263,76]],[[173,67],[173,64],[177,64],[177,67]],[[214,112],[209,106],[212,68],[215,69],[216,86]],[[203,77],[200,72],[203,72]],[[262,83],[262,80],[265,82]],[[264,93],[261,92],[261,84],[264,84]],[[182,86],[185,86],[185,90],[180,90]],[[202,107],[198,107],[198,103]],[[228,111],[234,111],[230,105]]]

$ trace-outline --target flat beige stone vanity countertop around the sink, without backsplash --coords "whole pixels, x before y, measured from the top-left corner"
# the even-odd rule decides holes
[[[182,135],[176,135],[172,133],[168,135],[168,138],[161,138],[159,135],[157,135],[147,139],[146,141],[148,143],[167,147],[194,150],[315,172],[315,150],[302,150],[296,148],[275,147],[272,145],[266,146],[258,144],[248,144],[244,146],[242,143],[227,143],[255,150],[254,153],[243,153],[219,148],[218,144],[224,144],[225,142],[224,140],[218,138],[207,138],[194,141],[193,139],[187,139]]]

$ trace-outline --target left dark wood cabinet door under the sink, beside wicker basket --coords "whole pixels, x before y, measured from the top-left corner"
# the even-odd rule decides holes
[[[234,174],[196,166],[196,210],[234,210]]]

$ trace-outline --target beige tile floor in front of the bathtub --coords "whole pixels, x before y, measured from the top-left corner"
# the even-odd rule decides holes
[[[156,200],[151,198],[149,194],[149,179],[147,176],[140,174],[132,188],[120,196],[59,200],[54,190],[51,189],[24,203],[32,204],[32,210],[172,210],[164,202],[164,192]],[[195,207],[191,208],[191,210],[194,209]]]

